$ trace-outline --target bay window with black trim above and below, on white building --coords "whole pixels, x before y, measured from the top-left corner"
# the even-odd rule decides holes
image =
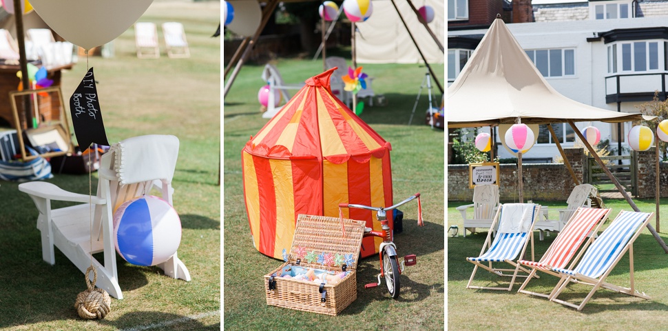
[[[662,49],[660,49],[661,47]],[[607,46],[607,72],[614,74],[622,72],[645,72],[659,70],[659,54],[664,52],[662,58],[663,68],[668,68],[668,55],[665,54],[667,43],[664,41],[622,41]],[[621,59],[621,61],[618,61]]]

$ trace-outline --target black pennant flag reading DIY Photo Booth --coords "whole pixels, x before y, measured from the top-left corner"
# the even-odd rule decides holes
[[[72,113],[74,135],[76,135],[76,141],[79,141],[81,150],[86,150],[91,143],[109,146],[95,87],[93,68],[86,72],[79,87],[70,97],[70,112]]]

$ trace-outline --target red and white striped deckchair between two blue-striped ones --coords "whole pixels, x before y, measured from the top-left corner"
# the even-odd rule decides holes
[[[563,230],[559,232],[559,235],[554,239],[550,248],[547,248],[547,251],[541,258],[541,261],[525,261],[520,260],[518,263],[521,265],[526,265],[529,268],[532,268],[530,277],[524,281],[522,286],[517,292],[522,292],[526,294],[537,295],[539,297],[549,297],[548,294],[530,292],[524,290],[526,285],[532,279],[532,276],[536,274],[537,271],[542,271],[547,274],[552,274],[559,277],[559,274],[552,271],[552,268],[566,268],[566,265],[571,261],[568,268],[573,268],[575,263],[580,259],[583,252],[587,246],[594,240],[594,235],[589,237],[589,240],[584,244],[582,250],[578,255],[573,259],[573,256],[578,251],[585,239],[587,234],[598,232],[598,228],[601,228],[601,225],[605,223],[607,215],[610,213],[610,209],[598,209],[598,208],[578,208],[573,214],[570,220],[566,223]]]

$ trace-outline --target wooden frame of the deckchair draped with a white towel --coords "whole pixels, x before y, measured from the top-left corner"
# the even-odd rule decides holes
[[[501,210],[503,209],[503,204],[499,205],[499,209],[497,210],[497,213],[494,215],[494,220],[492,221],[492,226],[490,228],[494,228],[494,226],[499,223],[499,216],[501,215]],[[534,261],[534,224],[536,223],[536,219],[539,217],[539,214],[541,214],[541,205],[534,205],[534,217],[532,219],[530,228],[528,230],[529,238],[528,240],[525,240],[524,245],[522,247],[522,250],[519,254],[519,257],[517,257],[517,260],[520,260],[524,257],[524,254],[527,249],[527,245],[529,241],[531,241],[531,261]],[[486,250],[489,250],[492,247],[492,231],[488,232],[487,234],[487,239],[485,240],[485,243],[483,243],[483,248],[480,250],[480,254],[478,256],[481,256],[486,252]],[[506,290],[510,291],[512,290],[512,285],[515,283],[515,279],[517,277],[524,278],[524,277],[536,277],[540,278],[538,275],[533,275],[530,276],[530,270],[524,268],[523,266],[519,265],[519,263],[515,263],[514,261],[510,259],[505,259],[503,262],[508,263],[514,267],[514,269],[501,269],[501,268],[493,268],[492,267],[492,261],[488,262],[488,265],[485,265],[483,263],[480,263],[478,261],[471,261],[470,258],[467,258],[466,261],[469,261],[470,263],[473,263],[475,266],[473,267],[473,272],[471,273],[471,277],[468,280],[468,283],[466,284],[466,288],[473,288],[473,289],[478,289],[478,290]],[[498,263],[498,262],[497,262]],[[484,270],[487,270],[489,272],[492,272],[493,274],[497,274],[501,277],[512,277],[510,279],[510,285],[508,285],[508,288],[494,288],[494,287],[489,287],[489,286],[474,286],[471,285],[473,282],[473,279],[475,277],[476,272],[478,271],[478,267],[483,268]],[[518,274],[519,271],[525,272],[526,275],[523,274]],[[505,274],[503,272],[513,272],[512,274]]]

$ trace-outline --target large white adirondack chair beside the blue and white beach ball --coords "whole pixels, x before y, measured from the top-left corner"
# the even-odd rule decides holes
[[[37,228],[41,232],[44,261],[56,263],[55,246],[83,273],[93,263],[98,288],[123,299],[118,285],[112,215],[123,202],[148,194],[154,186],[163,199],[172,203],[171,179],[178,145],[176,137],[165,135],[134,137],[114,144],[101,159],[95,196],[67,192],[43,181],[19,185],[19,190],[30,194],[39,210]],[[52,210],[52,200],[83,204]],[[98,252],[104,252],[104,264],[92,258]],[[176,254],[158,267],[165,270],[166,276],[190,281],[188,269]]]

